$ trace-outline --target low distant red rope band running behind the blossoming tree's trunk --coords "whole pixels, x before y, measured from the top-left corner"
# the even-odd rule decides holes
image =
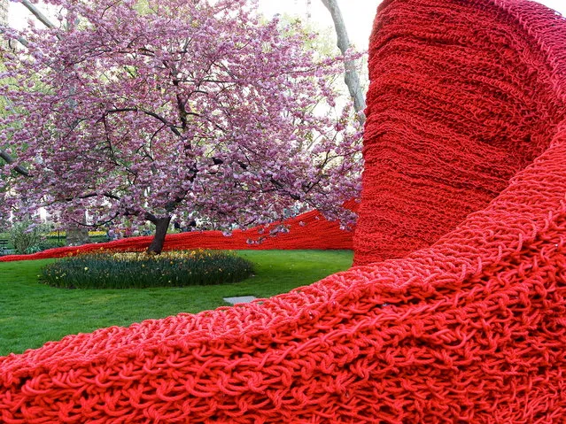
[[[357,204],[350,201],[346,204],[355,210]],[[255,227],[249,230],[236,230],[232,235],[223,235],[220,231],[196,231],[167,235],[165,251],[182,249],[221,249],[221,250],[337,250],[353,249],[353,233],[341,229],[337,222],[325,220],[320,212],[303,213],[284,224],[289,232],[273,235],[276,225]],[[92,243],[78,247],[62,247],[40,251],[31,255],[8,255],[0,257],[0,262],[14,260],[32,260],[46,258],[64,258],[89,251],[144,251],[151,243],[151,236],[131,237],[109,243]]]

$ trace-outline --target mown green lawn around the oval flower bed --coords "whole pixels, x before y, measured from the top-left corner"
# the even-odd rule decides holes
[[[0,356],[40,347],[64,335],[128,326],[178,312],[226,305],[222,297],[270,297],[347,269],[352,251],[241,251],[255,276],[219,286],[164,289],[54,289],[37,282],[53,259],[0,262]]]

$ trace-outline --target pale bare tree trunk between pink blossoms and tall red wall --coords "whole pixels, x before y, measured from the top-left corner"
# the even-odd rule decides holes
[[[352,44],[350,43],[350,37],[348,37],[348,32],[346,31],[344,17],[342,16],[342,12],[340,12],[337,0],[322,0],[322,4],[324,4],[329,10],[332,20],[334,21],[334,28],[336,29],[338,40],[338,49],[340,49],[342,54],[345,54],[346,50],[348,50]],[[360,75],[358,75],[354,60],[345,61],[344,81],[348,86],[350,96],[352,96],[353,107],[358,113],[358,119],[360,120],[360,123],[363,124],[366,121],[366,116],[363,113],[366,109],[366,100],[363,90],[361,89]]]

